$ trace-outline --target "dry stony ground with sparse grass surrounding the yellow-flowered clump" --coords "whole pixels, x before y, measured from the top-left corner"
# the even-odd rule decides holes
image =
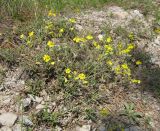
[[[158,1],[156,2],[158,4]],[[56,78],[51,77],[51,80],[46,80],[47,84],[43,86],[43,82],[31,79],[34,78],[32,76],[34,73],[28,73],[29,68],[24,68],[23,64],[6,64],[7,60],[15,60],[14,58],[12,60],[12,51],[7,52],[11,53],[7,57],[4,57],[5,53],[0,54],[0,130],[159,131],[160,33],[157,31],[160,28],[159,25],[154,27],[156,18],[152,14],[145,16],[140,9],[124,9],[117,5],[107,5],[101,9],[87,9],[65,14],[63,17],[66,20],[69,18],[76,19],[75,28],[78,32],[93,34],[95,39],[109,33],[115,38],[115,43],[119,40],[125,42],[124,38],[130,32],[134,32],[136,37],[134,43],[137,48],[133,56],[134,59],[141,59],[143,64],[133,70],[135,70],[135,76],[141,80],[141,84],[125,85],[120,82],[117,84],[115,81],[105,84],[102,82],[98,85],[98,91],[94,90],[99,94],[93,92],[93,98],[88,99],[89,103],[85,102],[83,95],[86,94],[83,92],[77,95],[78,99],[70,100],[66,99],[68,94],[57,86]],[[8,33],[5,33],[6,28],[12,30],[12,39],[6,39]],[[0,24],[0,29],[4,30],[0,35],[2,49],[15,49],[22,43],[19,36],[14,33],[17,30],[15,28],[17,27],[12,22],[9,25],[8,23]],[[65,47],[66,39],[53,38],[52,40],[58,43],[57,47],[59,45]],[[42,47],[36,47],[36,50],[39,51]],[[33,51],[34,55],[37,53],[36,50]],[[23,58],[24,52],[20,54]],[[16,57],[17,54],[14,53],[14,55]],[[25,57],[31,56],[28,53]],[[82,55],[79,59],[81,57],[86,56]],[[27,61],[29,62],[30,60]],[[40,78],[44,77],[39,76],[38,79]],[[87,91],[88,89],[86,93]],[[133,114],[136,114],[138,121],[134,120]],[[86,119],[86,116],[89,118]]]

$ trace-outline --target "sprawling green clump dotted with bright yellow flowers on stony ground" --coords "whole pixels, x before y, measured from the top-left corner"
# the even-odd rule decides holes
[[[123,42],[116,41],[111,33],[97,37],[92,33],[78,32],[75,18],[59,19],[58,15],[50,10],[37,32],[31,30],[20,34],[21,45],[12,57],[6,52],[15,48],[0,52],[8,64],[23,65],[30,76],[27,81],[29,93],[38,96],[46,90],[51,96],[63,94],[65,105],[75,114],[75,110],[70,108],[73,100],[80,106],[93,106],[103,99],[100,85],[132,86],[141,83],[132,70],[133,66],[139,68],[143,64],[141,60],[132,59],[136,49],[134,33],[128,34]],[[99,106],[96,110],[75,107],[80,109],[76,114],[84,114],[85,119],[92,121],[109,115]],[[58,123],[58,115],[48,113],[46,109],[37,115],[37,119],[52,126]]]

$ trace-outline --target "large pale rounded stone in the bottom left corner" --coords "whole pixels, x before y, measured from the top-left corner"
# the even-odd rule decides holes
[[[17,115],[11,112],[3,113],[0,115],[0,123],[4,126],[13,126],[17,120]]]

